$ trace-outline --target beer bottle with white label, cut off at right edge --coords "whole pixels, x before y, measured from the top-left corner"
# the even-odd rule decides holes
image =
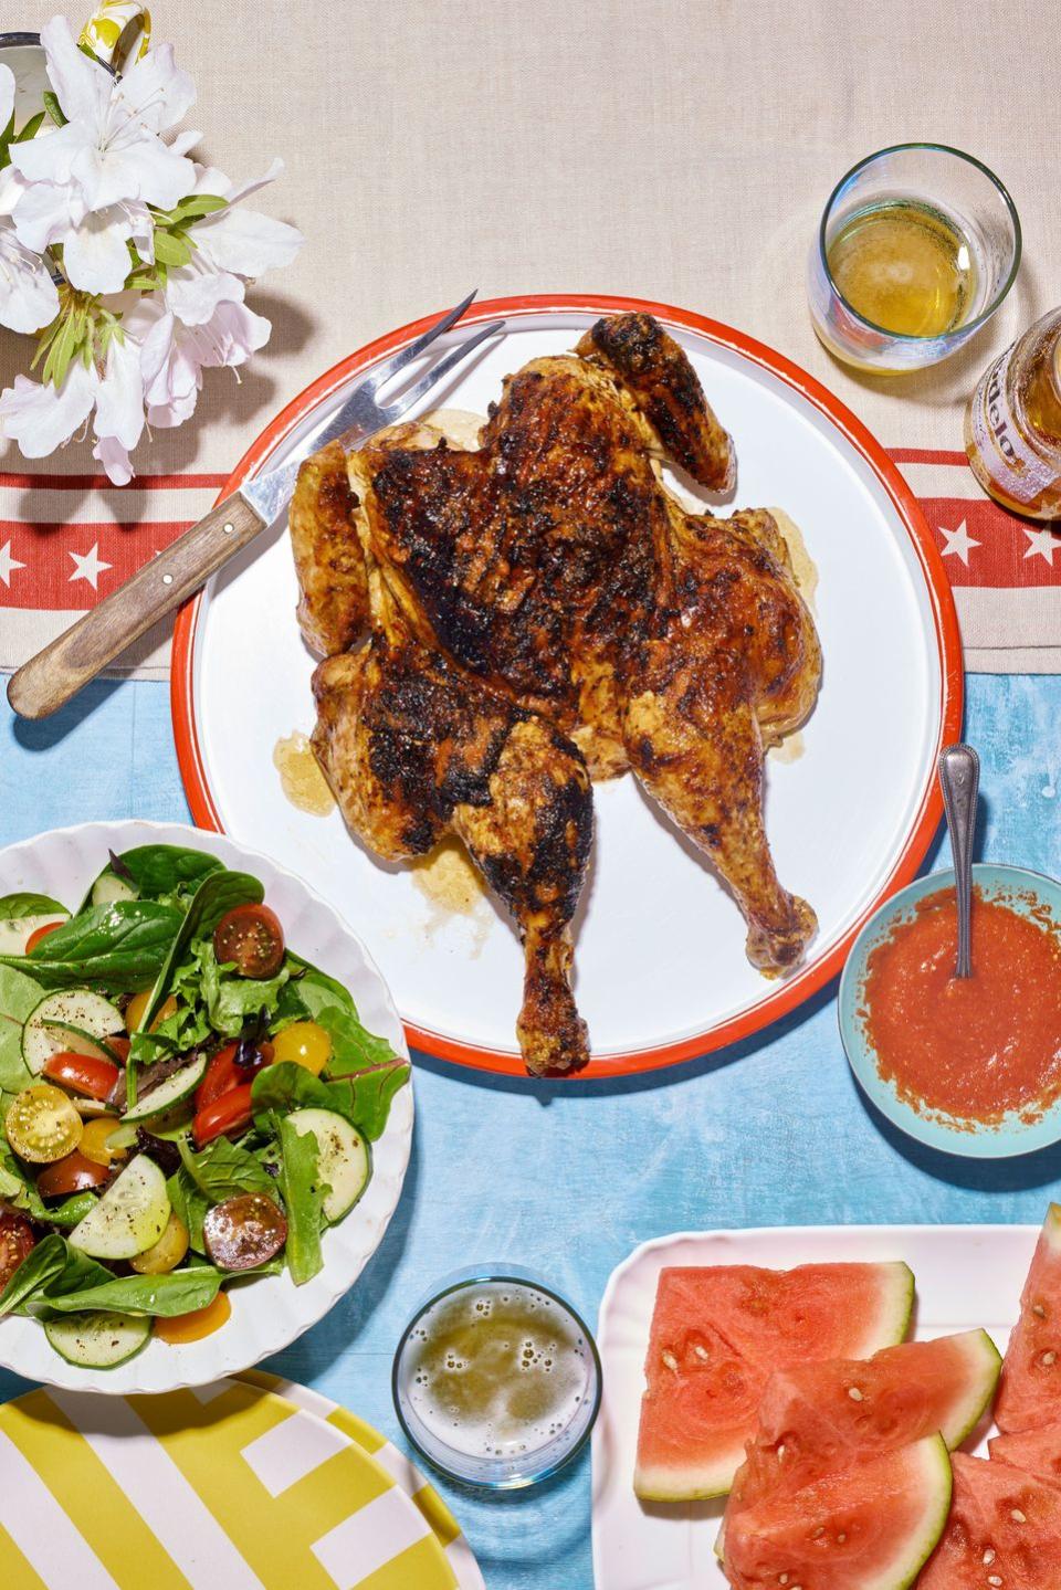
[[[966,410],[966,452],[1002,507],[1061,520],[1061,308],[988,367]]]

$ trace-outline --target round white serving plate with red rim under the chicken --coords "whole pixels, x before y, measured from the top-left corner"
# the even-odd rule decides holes
[[[577,307],[571,307],[577,302]],[[431,393],[431,409],[485,413],[501,380],[574,347],[598,313],[632,301],[520,299],[476,305],[507,331]],[[736,506],[784,509],[819,584],[824,684],[800,738],[768,765],[778,873],[818,913],[803,968],[764,979],[744,924],[703,859],[632,776],[595,785],[597,841],[576,917],[576,995],[593,1061],[614,1076],[702,1054],[767,1026],[840,970],[853,935],[916,871],[939,820],[935,758],[961,723],[961,649],[939,553],[908,487],[835,398],[779,355],[700,316],[652,308],[689,353],[738,456]],[[259,437],[229,488],[282,463],[353,385],[422,326],[321,377]],[[452,340],[452,337],[449,339]],[[197,822],[267,844],[366,935],[414,1046],[522,1073],[515,1016],[523,957],[482,898],[471,916],[425,895],[415,868],[377,863],[339,816],[296,809],[277,741],[309,733],[309,653],[277,525],[210,580],[177,625],[173,722]]]

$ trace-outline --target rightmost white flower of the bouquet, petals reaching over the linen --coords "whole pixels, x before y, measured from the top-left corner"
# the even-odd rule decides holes
[[[237,210],[240,199],[274,181],[283,161],[239,186],[216,167],[196,167],[196,192],[227,200],[224,210],[197,221],[196,250],[186,266],[170,270],[165,307],[185,326],[205,326],[221,304],[242,304],[245,277],[261,277],[277,266],[290,266],[302,246],[302,234],[286,221],[274,221],[258,210]]]

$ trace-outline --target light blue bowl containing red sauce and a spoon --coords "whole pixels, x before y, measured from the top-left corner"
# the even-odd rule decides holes
[[[986,900],[1005,897],[1005,903],[1021,916],[1031,916],[1034,909],[1048,911],[1053,922],[1061,927],[1061,882],[1044,878],[1042,873],[1029,873],[1023,867],[996,867],[980,862],[972,870],[974,884]],[[1061,1100],[1051,1105],[1037,1121],[1021,1121],[1016,1111],[1010,1111],[997,1126],[978,1126],[969,1129],[967,1123],[948,1124],[937,1115],[921,1115],[911,1110],[891,1083],[886,1083],[876,1068],[876,1053],[869,1043],[865,1026],[857,1011],[862,1005],[862,989],[865,986],[867,960],[870,952],[892,932],[892,929],[913,916],[913,909],[926,895],[954,886],[954,873],[931,873],[918,878],[897,895],[892,895],[880,911],[876,911],[848,956],[840,979],[840,1037],[851,1062],[859,1086],[870,1103],[876,1105],[892,1126],[897,1126],[908,1137],[915,1137],[929,1148],[939,1148],[946,1154],[962,1154],[967,1159],[1010,1159],[1013,1154],[1031,1154],[1037,1148],[1050,1148],[1061,1142]],[[977,941],[972,944],[974,965],[977,960]]]

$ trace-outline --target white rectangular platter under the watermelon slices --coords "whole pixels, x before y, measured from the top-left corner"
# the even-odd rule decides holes
[[[791,1226],[684,1232],[646,1242],[612,1272],[598,1347],[604,1399],[593,1433],[593,1577],[597,1590],[722,1590],[714,1557],[724,1501],[663,1506],[633,1495],[644,1353],[655,1283],[670,1264],[876,1262],[904,1259],[916,1280],[910,1334],[983,1326],[1005,1352],[1039,1235],[1037,1226]],[[975,1433],[972,1450],[986,1444]]]

